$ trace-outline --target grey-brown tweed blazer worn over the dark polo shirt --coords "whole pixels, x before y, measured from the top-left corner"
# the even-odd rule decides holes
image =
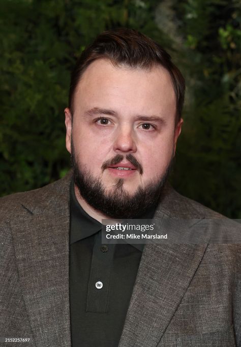
[[[30,338],[1,346],[71,346],[70,179],[0,199],[0,337]],[[171,187],[164,216],[222,218]],[[146,245],[119,347],[241,346],[240,250]]]

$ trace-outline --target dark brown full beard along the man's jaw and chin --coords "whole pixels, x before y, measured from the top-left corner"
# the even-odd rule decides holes
[[[117,179],[111,190],[106,192],[99,178],[94,178],[91,171],[81,168],[75,158],[73,144],[71,144],[71,148],[71,165],[73,167],[74,183],[80,195],[95,210],[107,217],[116,219],[139,218],[146,214],[150,208],[155,206],[161,197],[162,189],[173,164],[172,158],[164,175],[162,175],[157,182],[149,183],[145,187],[139,186],[132,195],[123,188],[123,179]],[[118,161],[112,164],[117,164],[122,160],[119,160],[119,157],[116,157],[116,160],[117,159]],[[136,163],[138,162],[136,161]]]

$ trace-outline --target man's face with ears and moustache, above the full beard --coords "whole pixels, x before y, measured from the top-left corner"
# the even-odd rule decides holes
[[[78,83],[73,122],[66,109],[67,149],[106,195],[119,187],[133,197],[158,185],[169,167],[182,126],[175,125],[175,105],[162,66],[146,71],[96,60]]]

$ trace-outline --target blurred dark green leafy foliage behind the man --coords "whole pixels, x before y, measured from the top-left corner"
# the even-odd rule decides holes
[[[238,0],[2,0],[0,192],[39,188],[70,167],[64,108],[76,58],[100,32],[135,28],[186,78],[174,188],[241,218]]]

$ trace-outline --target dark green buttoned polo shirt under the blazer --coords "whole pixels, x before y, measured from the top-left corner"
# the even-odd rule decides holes
[[[143,245],[102,245],[101,223],[70,194],[70,318],[73,347],[118,345]],[[143,218],[152,218],[152,209]]]

